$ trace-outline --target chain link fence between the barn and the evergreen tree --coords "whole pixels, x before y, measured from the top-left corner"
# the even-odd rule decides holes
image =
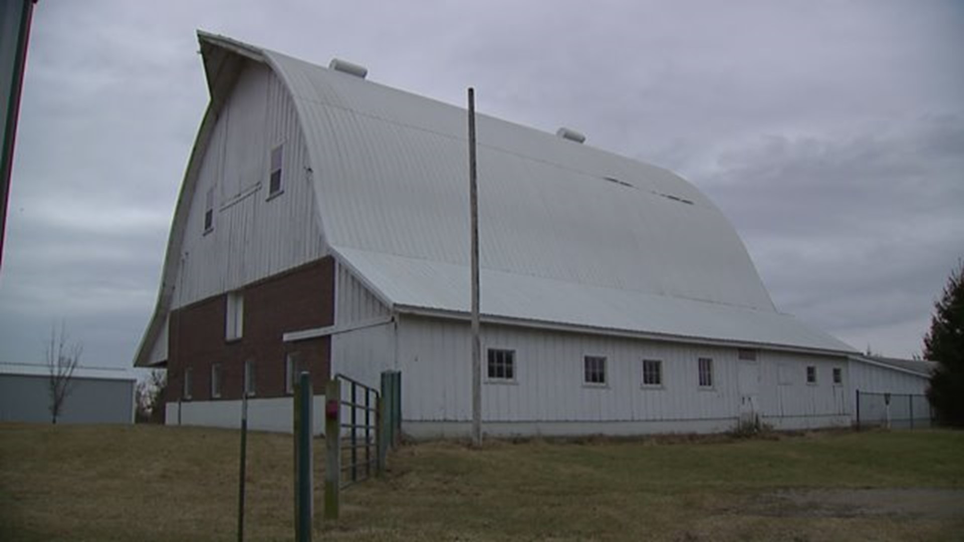
[[[857,428],[919,429],[934,423],[927,396],[918,393],[876,393],[857,390]]]

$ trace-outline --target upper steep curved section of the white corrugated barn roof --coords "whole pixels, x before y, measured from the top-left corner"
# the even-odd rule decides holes
[[[310,134],[330,243],[467,263],[466,112],[266,56]],[[478,139],[483,267],[772,311],[736,231],[682,178],[486,116]]]

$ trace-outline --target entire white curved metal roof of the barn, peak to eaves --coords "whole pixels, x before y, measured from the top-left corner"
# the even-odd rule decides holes
[[[227,92],[222,70],[241,58],[284,83],[308,145],[319,224],[342,263],[397,310],[467,312],[466,110],[239,41],[199,39],[212,100]],[[484,316],[852,351],[775,310],[736,230],[682,177],[485,115],[477,134]]]

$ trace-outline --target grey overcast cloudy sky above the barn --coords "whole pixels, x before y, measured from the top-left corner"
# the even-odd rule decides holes
[[[207,102],[195,31],[669,168],[782,312],[921,352],[964,257],[962,2],[40,0],[0,270],[0,361],[51,325],[130,366]]]

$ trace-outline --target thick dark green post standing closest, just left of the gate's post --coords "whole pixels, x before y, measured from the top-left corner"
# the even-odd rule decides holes
[[[295,470],[298,474],[295,482],[295,539],[298,542],[311,541],[311,437],[313,424],[311,423],[311,376],[302,372],[298,387],[295,389]]]

